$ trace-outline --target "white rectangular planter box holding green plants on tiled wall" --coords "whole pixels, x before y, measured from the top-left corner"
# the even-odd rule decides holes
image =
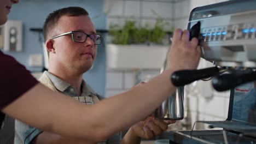
[[[160,69],[169,46],[107,44],[108,69]]]

